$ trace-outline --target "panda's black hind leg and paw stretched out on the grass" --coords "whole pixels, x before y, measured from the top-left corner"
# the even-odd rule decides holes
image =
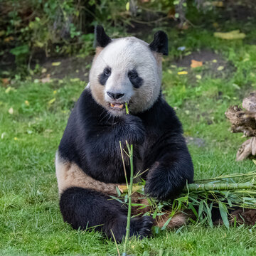
[[[60,196],[60,211],[63,220],[73,228],[95,228],[108,238],[121,242],[126,233],[127,209],[103,193],[87,188],[68,188]],[[151,217],[132,218],[130,235],[139,238],[151,235]]]

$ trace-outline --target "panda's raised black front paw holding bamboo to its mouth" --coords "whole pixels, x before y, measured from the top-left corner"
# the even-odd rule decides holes
[[[145,128],[142,119],[132,114],[125,114],[123,117],[124,135],[129,143],[144,142]]]

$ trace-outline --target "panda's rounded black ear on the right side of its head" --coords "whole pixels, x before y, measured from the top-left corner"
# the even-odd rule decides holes
[[[149,44],[150,50],[168,55],[168,36],[164,31],[157,31],[154,34],[154,40]]]

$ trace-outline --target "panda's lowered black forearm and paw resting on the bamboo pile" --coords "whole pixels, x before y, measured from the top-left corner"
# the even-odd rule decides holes
[[[154,146],[154,164],[146,177],[146,193],[159,200],[175,198],[193,182],[193,163],[181,134],[166,134]]]

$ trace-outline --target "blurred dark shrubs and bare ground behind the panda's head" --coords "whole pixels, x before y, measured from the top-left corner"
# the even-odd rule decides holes
[[[129,35],[146,41],[151,41],[154,31],[164,29],[174,59],[198,47],[210,48],[206,33],[242,29],[247,41],[256,36],[253,0],[1,0],[0,11],[2,78],[39,74],[42,65],[48,67],[49,59],[60,56],[86,59],[93,54],[96,24],[113,38]],[[189,37],[186,46],[184,36]],[[62,67],[73,65],[77,70],[80,64],[81,60],[66,59]],[[85,66],[78,74],[82,80]],[[62,71],[59,67],[51,73],[62,78]],[[72,70],[68,75],[74,76]]]

